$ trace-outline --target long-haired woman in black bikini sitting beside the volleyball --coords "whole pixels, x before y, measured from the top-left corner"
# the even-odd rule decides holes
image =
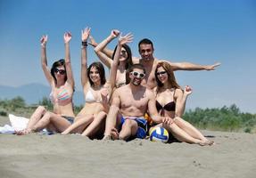
[[[202,146],[213,144],[193,125],[181,118],[185,110],[186,98],[192,90],[186,86],[183,93],[168,62],[158,63],[155,78],[157,82],[157,87],[154,88],[156,108],[161,117],[170,118],[163,120],[160,125],[164,126],[180,142],[196,143]]]

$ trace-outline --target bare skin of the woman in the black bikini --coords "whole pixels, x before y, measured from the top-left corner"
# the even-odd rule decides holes
[[[186,86],[183,93],[181,89],[172,88],[168,81],[168,74],[161,74],[162,72],[166,72],[166,70],[159,67],[157,69],[157,73],[159,74],[157,77],[163,86],[155,89],[156,100],[160,102],[161,106],[175,101],[176,109],[175,111],[164,110],[162,117],[166,117],[166,119],[157,126],[164,126],[180,142],[196,143],[201,146],[213,144],[213,142],[206,139],[193,125],[181,118],[185,110],[186,98],[192,93],[192,89]],[[169,119],[168,117],[173,119]]]

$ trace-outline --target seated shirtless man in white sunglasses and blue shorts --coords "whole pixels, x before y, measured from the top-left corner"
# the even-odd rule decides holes
[[[128,77],[129,84],[116,89],[112,95],[104,140],[144,139],[147,130],[145,119],[147,111],[155,123],[161,123],[166,119],[158,116],[153,92],[141,85],[145,78],[145,68],[141,64],[134,64],[129,70]]]

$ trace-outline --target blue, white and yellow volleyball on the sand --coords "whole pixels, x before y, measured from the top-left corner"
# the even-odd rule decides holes
[[[149,132],[149,136],[150,141],[153,142],[168,142],[169,139],[168,131],[165,128],[159,126],[153,127]]]

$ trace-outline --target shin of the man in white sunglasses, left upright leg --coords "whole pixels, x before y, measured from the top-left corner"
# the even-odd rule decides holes
[[[116,106],[111,106],[109,110],[109,114],[106,118],[106,125],[105,125],[105,133],[103,140],[108,140],[111,137],[111,130],[120,123],[119,116],[119,108]],[[118,119],[117,119],[118,118]]]

